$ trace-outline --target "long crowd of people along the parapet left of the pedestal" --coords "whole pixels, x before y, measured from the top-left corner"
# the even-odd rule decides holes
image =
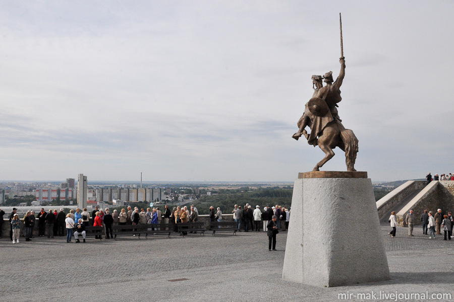
[[[260,231],[268,232],[270,236],[270,250],[275,249],[275,234],[277,230],[285,231],[289,227],[290,210],[285,207],[276,205],[275,207],[264,207],[263,212],[260,206],[256,206],[252,210],[252,206],[246,204],[244,207],[235,205],[233,211],[233,219],[237,222],[238,230],[248,232]],[[4,222],[5,212],[0,210],[0,238],[2,237],[2,224]],[[273,219],[275,217],[275,219]],[[25,241],[31,241],[33,236],[33,229],[35,224],[38,224],[38,236],[47,238],[54,238],[55,236],[65,236],[66,242],[72,242],[72,237],[76,243],[80,242],[79,236],[82,236],[85,242],[86,227],[87,226],[102,226],[105,230],[105,238],[113,239],[112,226],[113,225],[138,225],[138,224],[161,224],[171,223],[173,231],[179,232],[179,224],[187,222],[197,222],[199,220],[199,213],[196,207],[192,205],[190,209],[187,206],[175,207],[173,210],[169,209],[166,205],[163,211],[156,208],[139,209],[135,207],[127,207],[121,209],[120,212],[113,210],[110,213],[108,208],[99,209],[95,207],[93,211],[88,212],[86,208],[70,210],[65,213],[64,209],[41,211],[35,215],[33,211],[28,211],[23,217],[23,222],[17,214],[17,209],[13,208],[13,212],[8,216],[11,225],[10,240],[13,243],[19,243],[21,224],[24,223],[24,236]],[[216,210],[210,207],[209,213],[210,222],[221,222],[222,212],[220,208]],[[271,227],[271,232],[269,228]],[[187,232],[180,230],[180,235],[186,235]],[[101,234],[100,234],[101,235]],[[96,235],[99,238],[100,235]],[[136,235],[133,235],[136,236]],[[273,243],[271,243],[271,241]],[[271,246],[272,244],[272,246]]]

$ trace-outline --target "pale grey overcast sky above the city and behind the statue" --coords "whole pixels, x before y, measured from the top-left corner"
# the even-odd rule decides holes
[[[324,157],[291,136],[338,75],[339,12],[357,170],[454,172],[453,2],[0,5],[0,180],[293,181]]]

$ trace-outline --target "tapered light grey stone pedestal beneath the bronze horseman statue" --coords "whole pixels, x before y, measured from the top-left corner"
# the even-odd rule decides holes
[[[284,280],[332,287],[390,279],[366,172],[300,173],[288,232]]]

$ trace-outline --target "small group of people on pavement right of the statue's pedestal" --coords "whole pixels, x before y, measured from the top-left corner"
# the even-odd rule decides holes
[[[435,239],[435,235],[441,235],[441,229],[444,232],[444,240],[451,240],[453,238],[452,227],[454,226],[454,216],[452,216],[451,212],[443,214],[441,209],[438,209],[434,215],[432,211],[424,210],[424,213],[421,214],[420,221],[422,223],[423,234],[427,235],[427,231],[429,231],[429,239]],[[394,211],[389,216],[389,223],[392,228],[389,236],[393,238],[395,237],[396,226],[398,225]],[[414,236],[413,228],[415,223],[415,214],[413,214],[413,210],[410,210],[405,216],[405,225],[408,226],[409,236]]]

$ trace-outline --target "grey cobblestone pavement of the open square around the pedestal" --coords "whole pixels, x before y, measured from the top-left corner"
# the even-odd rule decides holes
[[[277,235],[277,251],[268,251],[264,232],[102,242],[90,237],[85,244],[58,237],[13,245],[3,238],[0,301],[335,301],[343,293],[426,290],[454,300],[454,240],[430,240],[419,228],[414,237],[398,228],[390,238],[390,228],[381,229],[392,280],[332,288],[281,279],[287,232]],[[183,278],[188,280],[168,281]]]

